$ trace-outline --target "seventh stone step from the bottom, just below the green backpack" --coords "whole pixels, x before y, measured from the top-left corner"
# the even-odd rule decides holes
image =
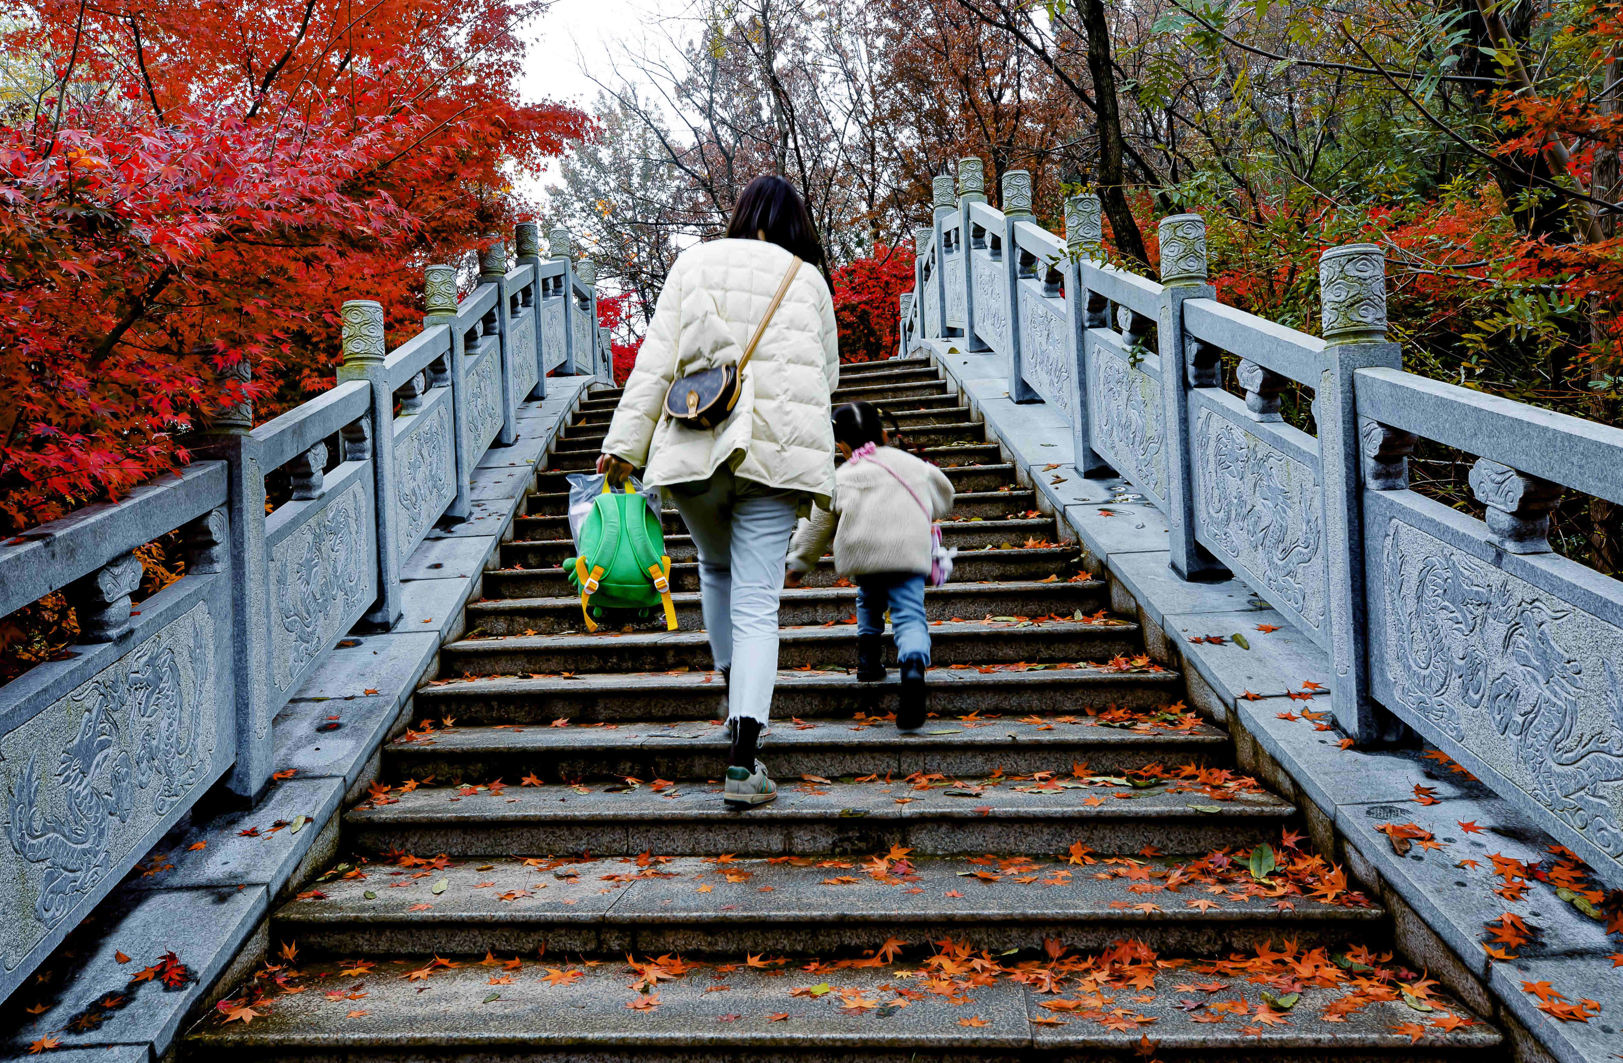
[[[688,630],[704,626],[696,592],[672,594],[677,607],[677,623]],[[928,587],[923,597],[925,615],[930,620],[953,617],[1071,617],[1076,612],[1092,615],[1109,607],[1104,583],[949,583],[945,587]],[[846,620],[857,612],[855,587],[787,587],[784,589],[777,620],[789,626],[810,626],[829,620]],[[607,628],[665,630],[665,618],[639,620],[635,613],[607,612],[599,620]],[[581,630],[581,599],[575,596],[500,599],[467,605],[467,630],[482,635],[558,635]]]

